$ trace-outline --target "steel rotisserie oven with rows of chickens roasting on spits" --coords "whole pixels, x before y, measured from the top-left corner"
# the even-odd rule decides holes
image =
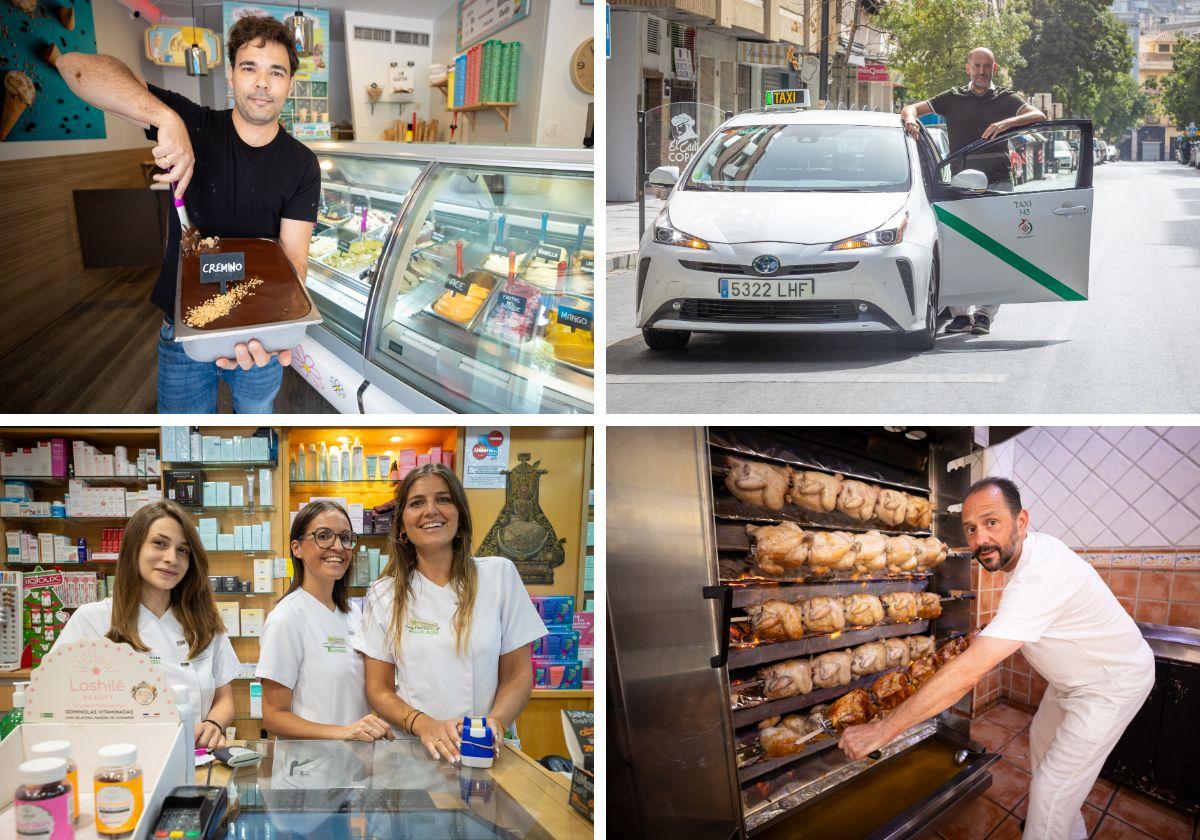
[[[966,697],[868,758],[838,749],[970,643],[971,430],[920,432],[610,430],[622,822],[690,840],[918,836],[991,784]]]

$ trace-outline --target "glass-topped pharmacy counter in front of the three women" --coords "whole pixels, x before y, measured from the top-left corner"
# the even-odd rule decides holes
[[[197,784],[228,785],[228,836],[281,832],[322,838],[592,838],[568,805],[570,782],[504,746],[490,769],[433,762],[420,742],[274,742],[244,746],[257,767],[197,769]]]

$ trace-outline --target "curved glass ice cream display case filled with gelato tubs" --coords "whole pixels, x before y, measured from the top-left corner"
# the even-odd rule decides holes
[[[590,151],[311,148],[324,324],[294,354],[310,384],[336,368],[343,398],[323,395],[343,412],[592,410]]]

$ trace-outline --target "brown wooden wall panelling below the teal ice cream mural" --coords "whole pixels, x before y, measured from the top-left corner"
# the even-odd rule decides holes
[[[0,162],[0,356],[121,272],[83,268],[72,191],[144,187],[148,156],[124,149]]]

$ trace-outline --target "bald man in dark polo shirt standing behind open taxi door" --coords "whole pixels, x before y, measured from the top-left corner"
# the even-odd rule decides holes
[[[967,84],[943,90],[937,96],[905,106],[900,110],[905,130],[913,137],[920,136],[918,116],[938,114],[946,119],[950,134],[950,154],[965,149],[976,140],[991,139],[1010,128],[1042,122],[1046,115],[1007,88],[996,88],[991,79],[1000,70],[990,49],[977,47],[967,55]],[[1012,192],[1013,180],[1008,152],[972,155],[971,168],[988,176],[988,188]],[[953,318],[946,325],[947,332],[973,332],[988,335],[1000,306],[952,306]]]

